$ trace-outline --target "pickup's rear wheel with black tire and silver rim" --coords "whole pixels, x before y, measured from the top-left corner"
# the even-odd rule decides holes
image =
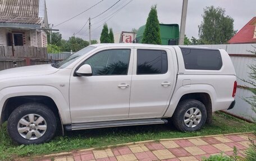
[[[175,127],[184,132],[198,131],[204,125],[207,111],[204,104],[195,99],[183,100],[173,114]]]

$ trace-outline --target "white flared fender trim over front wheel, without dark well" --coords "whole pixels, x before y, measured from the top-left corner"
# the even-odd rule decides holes
[[[4,88],[0,91],[0,107],[3,107],[8,98],[26,95],[42,95],[51,98],[57,105],[60,113],[60,119],[63,125],[71,123],[70,108],[68,98],[61,93],[60,90],[53,86],[47,85],[29,85],[29,86],[12,86]],[[68,96],[68,95],[67,95]],[[2,113],[2,108],[0,108]]]

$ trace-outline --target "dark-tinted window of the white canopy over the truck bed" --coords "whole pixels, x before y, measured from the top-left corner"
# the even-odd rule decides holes
[[[220,70],[220,50],[181,48],[187,70]]]

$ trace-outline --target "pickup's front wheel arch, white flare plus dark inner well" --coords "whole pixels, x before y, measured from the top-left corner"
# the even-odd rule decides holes
[[[0,123],[8,119],[10,113],[19,105],[38,102],[48,105],[54,114],[60,118],[61,124],[70,124],[70,109],[68,99],[60,90],[53,86],[14,86],[0,91]]]

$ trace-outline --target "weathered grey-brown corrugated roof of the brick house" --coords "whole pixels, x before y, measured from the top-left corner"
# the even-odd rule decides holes
[[[40,4],[44,0],[0,0],[0,23],[40,24]],[[44,3],[43,3],[44,4]]]

